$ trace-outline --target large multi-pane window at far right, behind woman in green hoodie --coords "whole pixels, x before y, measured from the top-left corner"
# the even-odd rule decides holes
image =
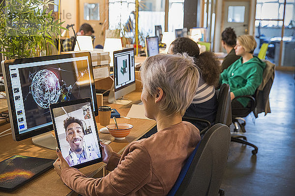
[[[295,0],[257,0],[255,26],[256,52],[263,43],[268,43],[267,60],[279,67],[294,67]]]

